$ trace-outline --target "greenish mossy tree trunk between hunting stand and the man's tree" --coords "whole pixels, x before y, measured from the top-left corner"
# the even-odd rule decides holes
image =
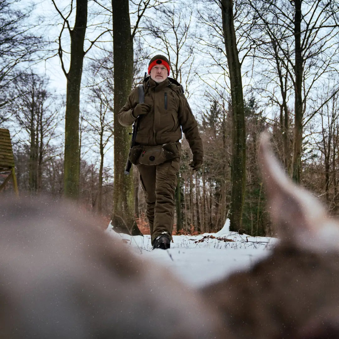
[[[67,78],[65,116],[64,195],[79,197],[79,105],[84,39],[87,26],[87,0],[77,0],[74,28],[71,36],[71,62]]]

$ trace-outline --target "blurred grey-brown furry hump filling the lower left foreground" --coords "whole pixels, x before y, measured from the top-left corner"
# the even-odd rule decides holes
[[[2,339],[218,336],[198,293],[71,202],[7,198],[0,218]]]

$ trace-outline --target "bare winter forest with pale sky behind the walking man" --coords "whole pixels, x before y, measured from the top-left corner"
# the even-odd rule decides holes
[[[115,116],[161,53],[205,152],[192,172],[183,138],[175,231],[220,230],[243,190],[233,230],[274,235],[257,164],[265,129],[291,177],[338,215],[338,29],[331,0],[0,0],[0,127],[11,133],[20,194],[68,196],[129,230],[133,213],[145,233],[137,171],[123,173],[130,128]]]

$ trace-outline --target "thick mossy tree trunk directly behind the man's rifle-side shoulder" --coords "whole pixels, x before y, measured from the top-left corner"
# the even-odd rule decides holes
[[[114,195],[112,224],[121,232],[140,234],[134,218],[133,175],[124,174],[129,151],[129,129],[118,122],[118,112],[131,93],[133,38],[128,0],[112,0],[114,63]],[[133,173],[133,172],[132,172]],[[127,229],[127,230],[126,230]]]

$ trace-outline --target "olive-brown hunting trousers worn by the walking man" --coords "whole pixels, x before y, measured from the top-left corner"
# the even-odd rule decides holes
[[[177,157],[159,165],[138,165],[152,244],[160,235],[172,239],[179,159]]]

